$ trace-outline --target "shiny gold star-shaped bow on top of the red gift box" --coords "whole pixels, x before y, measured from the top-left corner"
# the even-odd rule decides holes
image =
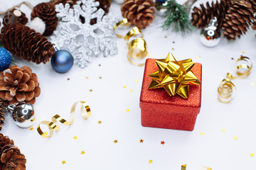
[[[152,79],[149,89],[164,88],[170,96],[176,94],[188,98],[189,84],[201,84],[195,74],[191,71],[195,62],[191,59],[176,61],[169,52],[166,59],[156,61],[159,70],[149,75]]]

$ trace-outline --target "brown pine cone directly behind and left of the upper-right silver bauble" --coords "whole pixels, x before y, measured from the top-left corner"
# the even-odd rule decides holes
[[[210,19],[214,16],[218,20],[218,26],[222,26],[222,21],[224,18],[225,11],[228,8],[228,4],[230,1],[220,0],[220,2],[216,1],[212,2],[211,6],[209,2],[206,3],[206,6],[200,4],[201,8],[197,8],[196,6],[193,8],[192,16],[192,25],[198,28],[205,28],[208,26]]]

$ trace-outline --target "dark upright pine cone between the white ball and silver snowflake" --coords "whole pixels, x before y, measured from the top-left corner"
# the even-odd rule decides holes
[[[38,4],[33,8],[31,13],[31,20],[36,17],[41,18],[41,20],[46,23],[46,30],[43,35],[49,36],[53,34],[53,31],[57,28],[58,25],[55,6],[53,6],[53,4],[50,2]]]

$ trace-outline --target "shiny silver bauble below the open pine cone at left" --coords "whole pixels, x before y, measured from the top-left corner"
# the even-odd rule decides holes
[[[35,111],[31,104],[20,103],[17,106],[9,105],[7,109],[12,113],[15,124],[21,128],[30,127],[36,120]]]

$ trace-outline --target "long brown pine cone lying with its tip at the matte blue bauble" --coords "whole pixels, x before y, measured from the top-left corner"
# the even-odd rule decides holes
[[[55,53],[53,44],[46,37],[21,23],[1,28],[0,40],[3,47],[13,55],[36,64],[46,64]]]

